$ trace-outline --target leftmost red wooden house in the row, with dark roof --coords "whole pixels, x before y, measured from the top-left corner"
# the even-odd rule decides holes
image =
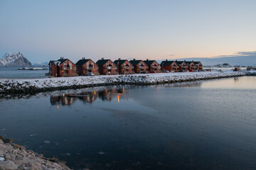
[[[60,57],[60,60],[49,62],[49,75],[53,77],[78,76],[77,67],[70,60]]]

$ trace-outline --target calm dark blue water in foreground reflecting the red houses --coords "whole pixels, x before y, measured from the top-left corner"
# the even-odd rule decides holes
[[[0,135],[73,169],[255,169],[256,77],[0,99]]]

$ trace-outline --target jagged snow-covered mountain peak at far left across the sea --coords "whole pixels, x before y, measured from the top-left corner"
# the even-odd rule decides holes
[[[32,67],[32,64],[21,54],[21,52],[14,54],[7,52],[0,59],[0,67]]]

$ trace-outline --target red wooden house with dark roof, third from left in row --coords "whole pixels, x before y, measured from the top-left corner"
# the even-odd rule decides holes
[[[99,67],[99,72],[102,75],[110,75],[110,74],[118,74],[117,72],[117,65],[114,64],[111,60],[98,60],[96,64]]]

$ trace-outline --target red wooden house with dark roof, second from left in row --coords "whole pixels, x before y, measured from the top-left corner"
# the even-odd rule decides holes
[[[82,57],[82,60],[79,60],[76,65],[78,66],[78,74],[80,76],[85,76],[90,72],[95,75],[100,74],[97,64],[90,59],[85,59],[85,57]]]

